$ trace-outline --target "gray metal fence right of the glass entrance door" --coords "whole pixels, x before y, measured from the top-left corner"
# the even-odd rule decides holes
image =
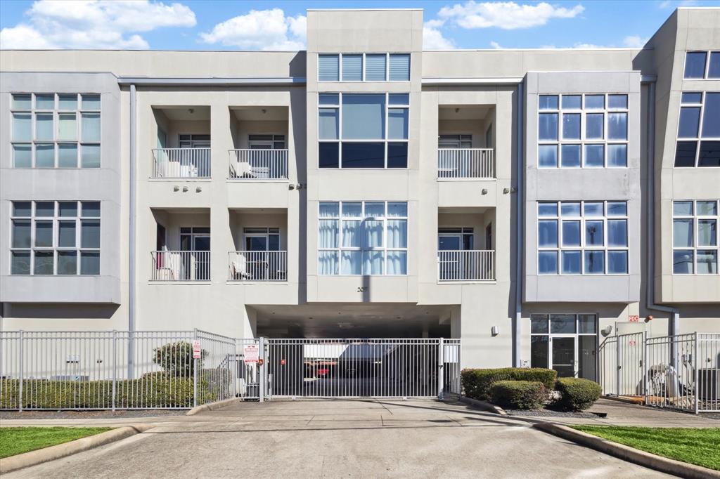
[[[720,333],[621,334],[600,345],[600,384],[649,406],[720,412]]]

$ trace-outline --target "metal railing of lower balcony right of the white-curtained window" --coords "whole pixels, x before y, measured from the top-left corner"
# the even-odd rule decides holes
[[[495,250],[438,251],[438,280],[495,280]]]

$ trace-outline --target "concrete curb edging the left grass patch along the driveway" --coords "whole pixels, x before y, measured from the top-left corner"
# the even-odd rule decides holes
[[[5,457],[0,459],[0,474],[6,474],[13,470],[30,467],[42,462],[48,462],[60,457],[77,454],[94,447],[99,447],[110,442],[120,441],[126,437],[140,434],[148,429],[155,427],[154,424],[135,424],[134,426],[122,426],[111,431],[101,432],[94,436],[75,439],[74,441],[57,444],[55,446],[44,447],[35,451],[24,452],[17,456]]]

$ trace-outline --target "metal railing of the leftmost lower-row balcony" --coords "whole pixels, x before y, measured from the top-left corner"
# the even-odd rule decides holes
[[[210,281],[210,251],[152,251],[150,280]]]

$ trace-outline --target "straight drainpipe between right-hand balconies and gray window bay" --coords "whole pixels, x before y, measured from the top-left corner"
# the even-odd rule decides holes
[[[517,101],[517,146],[516,146],[516,162],[518,181],[516,184],[515,201],[516,201],[516,272],[515,272],[515,324],[513,327],[513,366],[520,368],[521,366],[521,344],[523,340],[522,320],[523,320],[523,83],[518,83],[518,101]]]

